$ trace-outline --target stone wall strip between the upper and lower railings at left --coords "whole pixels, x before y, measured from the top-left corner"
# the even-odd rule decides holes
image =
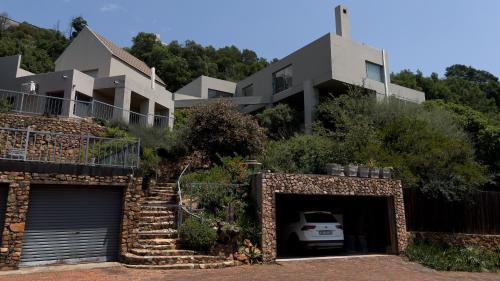
[[[34,131],[73,135],[101,136],[104,133],[104,127],[90,119],[0,113],[0,128],[26,129],[28,127]]]

